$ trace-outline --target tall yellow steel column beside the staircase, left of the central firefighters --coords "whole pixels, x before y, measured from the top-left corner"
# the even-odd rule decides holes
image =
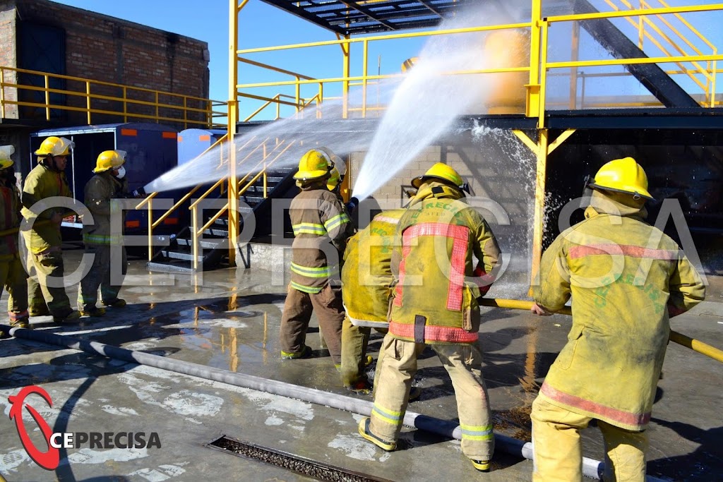
[[[239,180],[236,177],[236,122],[239,119],[239,13],[249,0],[236,4],[229,1],[228,9],[228,264],[236,262],[239,241]]]

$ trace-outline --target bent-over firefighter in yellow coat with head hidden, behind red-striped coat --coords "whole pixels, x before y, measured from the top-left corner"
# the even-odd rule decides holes
[[[372,328],[387,332],[394,276],[390,266],[394,233],[406,210],[389,210],[349,238],[341,270],[346,318],[341,330],[341,382],[355,392],[371,389],[364,367]],[[380,353],[381,361],[382,353]]]

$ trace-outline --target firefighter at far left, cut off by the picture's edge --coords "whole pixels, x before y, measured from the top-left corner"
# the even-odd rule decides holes
[[[30,328],[27,314],[27,273],[20,259],[20,191],[17,189],[12,145],[0,146],[0,295],[7,289],[7,314],[11,327]]]

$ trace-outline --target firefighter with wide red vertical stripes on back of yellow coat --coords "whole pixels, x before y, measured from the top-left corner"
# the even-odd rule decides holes
[[[476,345],[476,298],[486,291],[481,286],[489,287],[486,273],[500,249],[482,216],[464,201],[462,178],[448,165],[435,164],[412,185],[419,191],[399,221],[393,248],[398,283],[374,408],[371,419],[359,422],[359,433],[382,449],[395,449],[417,356],[430,345],[452,379],[462,452],[475,468],[489,470],[495,439]]]

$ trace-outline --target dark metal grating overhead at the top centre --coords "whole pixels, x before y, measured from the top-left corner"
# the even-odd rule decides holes
[[[435,27],[476,0],[262,0],[341,35]]]

